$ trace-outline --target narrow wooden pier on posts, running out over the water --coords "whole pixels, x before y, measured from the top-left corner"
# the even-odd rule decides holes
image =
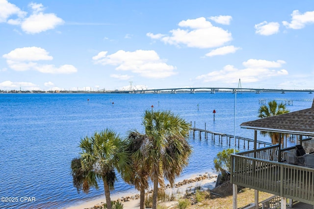
[[[205,125],[206,127],[206,125]],[[200,138],[200,140],[202,139],[202,132],[205,133],[205,139],[208,140],[209,135],[211,135],[211,140],[215,143],[215,136],[218,136],[218,141],[219,143],[223,144],[223,139],[225,137],[226,139],[226,143],[227,145],[231,146],[234,143],[231,143],[231,139],[235,138],[235,146],[237,146],[238,148],[240,148],[240,141],[243,141],[243,148],[245,149],[245,145],[247,144],[247,149],[250,149],[250,142],[252,142],[252,144],[254,143],[254,139],[248,139],[248,138],[244,138],[244,137],[238,137],[238,136],[233,136],[233,135],[229,135],[229,134],[223,134],[223,133],[218,133],[218,132],[213,132],[213,131],[209,131],[206,129],[200,129],[200,128],[192,128],[191,127],[191,131],[193,132],[193,139],[195,139],[195,132],[198,132],[198,136]],[[216,139],[217,140],[217,139]],[[234,142],[234,140],[232,141]],[[257,144],[258,144],[258,148],[260,148],[261,145],[265,146],[270,146],[272,145],[272,143],[270,142],[265,142],[265,141],[260,141],[257,140]]]

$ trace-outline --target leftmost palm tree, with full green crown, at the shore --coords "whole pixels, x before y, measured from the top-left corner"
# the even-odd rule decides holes
[[[88,193],[90,187],[98,189],[98,181],[102,180],[105,189],[106,205],[111,209],[110,190],[116,180],[115,169],[124,179],[129,179],[129,154],[126,142],[111,129],[95,132],[92,137],[81,139],[80,158],[72,160],[71,169],[74,186]]]

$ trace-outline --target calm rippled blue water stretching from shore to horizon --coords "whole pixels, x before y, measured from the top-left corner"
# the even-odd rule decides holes
[[[239,124],[257,119],[259,98],[310,98],[309,93],[242,93],[236,95],[236,135],[253,138],[253,131]],[[89,101],[87,100],[89,99]],[[114,102],[114,105],[112,105]],[[0,94],[0,197],[18,202],[0,202],[0,208],[65,208],[86,198],[104,194],[104,189],[79,193],[72,185],[70,163],[78,157],[81,138],[110,127],[121,136],[143,131],[146,109],[172,110],[196,127],[234,134],[235,94]],[[290,111],[310,108],[312,102],[293,102]],[[213,122],[212,111],[215,110]],[[259,140],[263,139],[259,136]],[[227,145],[211,140],[189,139],[193,155],[183,175],[211,172],[213,158]],[[123,182],[115,190],[132,188]],[[35,197],[36,202],[21,202]]]

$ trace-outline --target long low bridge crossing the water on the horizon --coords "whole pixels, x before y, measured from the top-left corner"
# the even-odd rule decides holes
[[[307,92],[313,93],[314,90],[291,90],[291,89],[256,89],[256,88],[222,88],[222,87],[185,87],[185,88],[166,88],[166,89],[141,89],[141,90],[121,90],[116,93],[177,93],[179,91],[195,93],[196,91],[215,93],[219,90],[235,92]]]

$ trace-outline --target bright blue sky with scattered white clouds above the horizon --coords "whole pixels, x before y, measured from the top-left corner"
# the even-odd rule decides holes
[[[314,89],[313,0],[0,0],[0,90]]]

